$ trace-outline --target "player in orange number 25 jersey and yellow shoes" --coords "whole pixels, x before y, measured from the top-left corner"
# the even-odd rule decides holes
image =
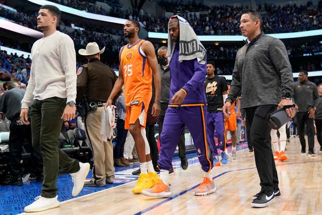
[[[137,184],[132,189],[134,193],[141,193],[142,189],[152,187],[159,180],[150,157],[145,122],[152,97],[152,73],[155,86],[152,115],[160,113],[161,78],[154,46],[150,41],[140,39],[139,31],[138,21],[127,20],[124,23],[124,36],[129,39],[129,43],[120,49],[119,75],[105,104],[105,108],[112,105],[114,97],[124,84],[125,129],[129,129],[134,138],[141,169]]]

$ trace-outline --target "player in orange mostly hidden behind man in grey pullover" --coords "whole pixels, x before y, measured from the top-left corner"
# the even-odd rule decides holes
[[[228,85],[228,94],[230,90],[230,85]],[[237,111],[235,108],[235,105],[237,107]],[[237,145],[237,135],[236,135],[236,129],[237,129],[237,116],[240,115],[240,100],[237,97],[236,101],[234,101],[230,107],[230,116],[225,117],[225,135],[227,139],[227,132],[230,130],[231,139],[232,139],[232,159],[237,159],[236,154],[236,145]]]

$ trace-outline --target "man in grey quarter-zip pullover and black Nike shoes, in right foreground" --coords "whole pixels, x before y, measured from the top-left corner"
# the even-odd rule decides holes
[[[265,207],[281,196],[273,157],[268,119],[277,107],[293,105],[292,68],[285,45],[280,39],[261,32],[261,14],[253,9],[242,12],[240,28],[247,37],[238,50],[230,93],[223,106],[229,116],[231,103],[240,92],[242,108],[246,112],[246,126],[250,129],[261,191],[253,196],[253,207]],[[286,109],[293,117],[295,108]]]

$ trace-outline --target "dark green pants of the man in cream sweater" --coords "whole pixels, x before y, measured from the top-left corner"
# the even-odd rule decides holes
[[[51,97],[34,99],[31,103],[32,145],[39,147],[43,158],[43,182],[41,196],[56,196],[58,169],[74,173],[79,170],[77,160],[70,158],[58,148],[58,137],[62,126],[61,115],[66,106],[66,98]]]

